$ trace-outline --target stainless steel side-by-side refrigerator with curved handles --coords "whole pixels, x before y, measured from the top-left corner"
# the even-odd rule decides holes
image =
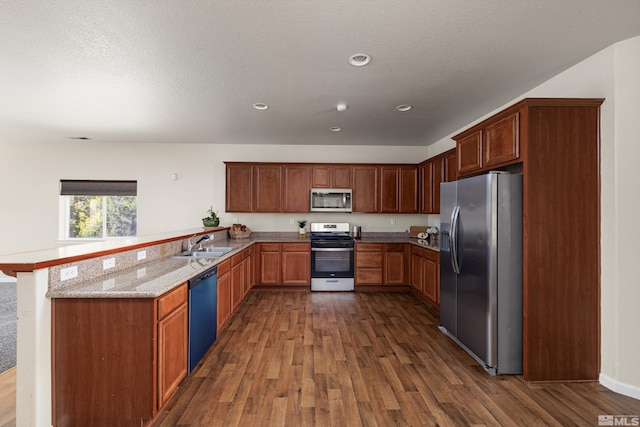
[[[442,183],[440,233],[440,329],[491,375],[521,374],[522,175]]]

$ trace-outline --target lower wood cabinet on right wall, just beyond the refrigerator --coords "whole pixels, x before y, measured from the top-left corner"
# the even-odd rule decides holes
[[[411,246],[411,288],[440,306],[440,253]]]

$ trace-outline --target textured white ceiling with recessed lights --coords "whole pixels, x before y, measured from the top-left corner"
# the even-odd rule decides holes
[[[0,142],[428,145],[637,35],[638,0],[3,0]]]

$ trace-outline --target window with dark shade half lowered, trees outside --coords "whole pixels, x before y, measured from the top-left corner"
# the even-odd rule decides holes
[[[136,181],[61,180],[63,239],[135,236]]]

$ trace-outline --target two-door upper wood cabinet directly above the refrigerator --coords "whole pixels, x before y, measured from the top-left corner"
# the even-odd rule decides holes
[[[520,159],[520,113],[515,112],[481,129],[456,135],[458,174],[505,166]]]

